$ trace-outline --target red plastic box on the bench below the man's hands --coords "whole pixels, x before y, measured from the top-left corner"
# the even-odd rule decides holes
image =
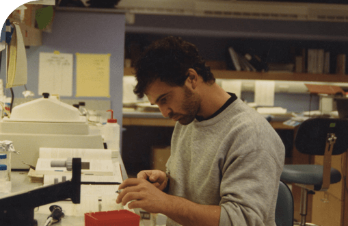
[[[85,226],[139,226],[140,216],[129,210],[85,213]]]

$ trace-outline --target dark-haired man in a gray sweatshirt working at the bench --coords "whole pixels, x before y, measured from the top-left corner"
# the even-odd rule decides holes
[[[219,87],[181,38],[152,43],[135,70],[134,92],[177,123],[167,174],[126,179],[116,202],[165,214],[167,225],[275,226],[284,145],[265,118]]]

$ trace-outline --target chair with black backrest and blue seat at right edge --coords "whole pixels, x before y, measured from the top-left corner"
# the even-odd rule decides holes
[[[324,164],[284,165],[280,179],[295,183],[301,188],[299,225],[306,225],[308,191],[326,191],[330,184],[338,183],[340,172],[331,167],[332,155],[348,149],[348,120],[343,118],[310,118],[297,130],[295,147],[308,155],[324,155]],[[312,224],[310,224],[312,225]]]

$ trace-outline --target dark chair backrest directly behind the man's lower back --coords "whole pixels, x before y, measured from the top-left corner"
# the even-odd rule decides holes
[[[293,194],[283,181],[279,181],[276,205],[276,225],[293,226]]]

